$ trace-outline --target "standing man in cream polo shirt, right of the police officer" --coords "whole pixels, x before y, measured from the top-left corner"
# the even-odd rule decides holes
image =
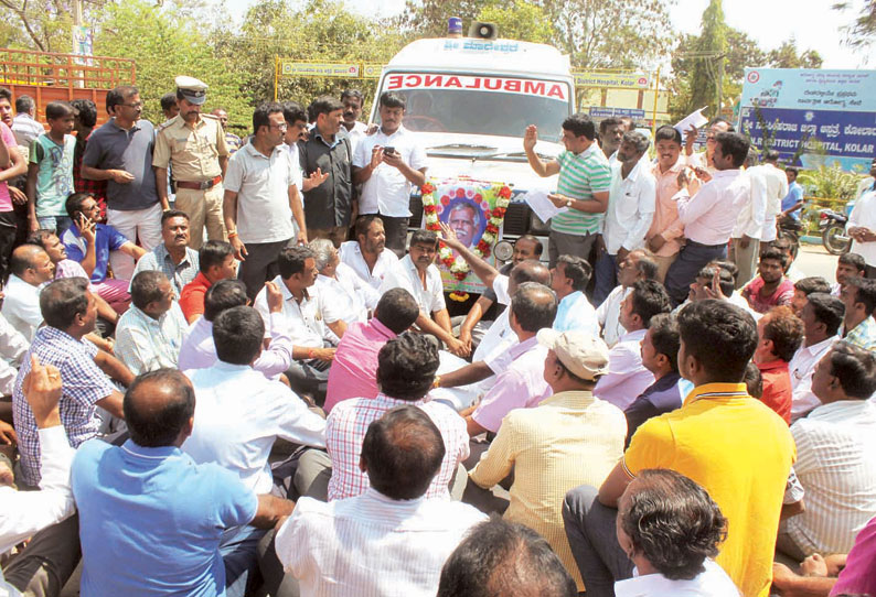
[[[237,278],[250,300],[277,275],[277,256],[292,237],[307,242],[297,164],[280,146],[287,131],[282,106],[259,106],[253,112],[253,130],[252,141],[228,161],[223,202],[228,240],[241,261]]]

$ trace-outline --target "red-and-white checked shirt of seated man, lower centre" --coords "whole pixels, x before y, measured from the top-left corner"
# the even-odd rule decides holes
[[[380,393],[374,399],[354,398],[338,403],[325,422],[325,447],[332,460],[329,501],[359,496],[371,486],[367,475],[359,468],[365,432],[368,425],[384,413],[404,405],[421,409],[441,432],[446,453],[441,468],[431,480],[426,497],[449,497],[448,486],[457,470],[457,465],[469,457],[469,434],[466,431],[464,419],[450,406],[429,401],[428,397],[408,402]]]

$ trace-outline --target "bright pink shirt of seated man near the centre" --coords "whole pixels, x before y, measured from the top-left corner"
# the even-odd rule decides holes
[[[376,318],[346,328],[329,369],[327,413],[342,400],[377,395],[377,352],[395,336]]]

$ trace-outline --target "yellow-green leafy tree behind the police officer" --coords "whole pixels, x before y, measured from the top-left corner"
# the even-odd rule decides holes
[[[214,57],[195,21],[175,6],[157,7],[147,0],[107,4],[95,36],[95,54],[137,61],[143,117],[152,122],[163,121],[159,99],[175,89],[178,75],[196,77],[210,86],[206,111],[223,107],[234,124],[246,124],[252,116],[234,74]]]

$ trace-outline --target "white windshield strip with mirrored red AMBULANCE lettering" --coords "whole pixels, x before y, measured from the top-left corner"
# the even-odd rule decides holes
[[[387,91],[394,89],[466,89],[541,96],[563,101],[566,101],[568,97],[568,86],[556,80],[488,77],[478,75],[407,73],[389,75],[384,79],[384,86]]]

